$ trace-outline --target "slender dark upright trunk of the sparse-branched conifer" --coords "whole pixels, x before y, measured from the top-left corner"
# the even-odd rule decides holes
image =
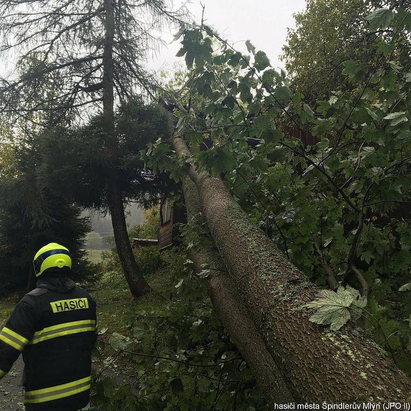
[[[111,171],[107,181],[107,201],[113,222],[114,238],[130,292],[139,297],[150,291],[143,276],[139,273],[133,250],[127,234],[124,215],[123,195],[117,184],[117,138],[114,118],[114,64],[113,44],[115,32],[114,2],[104,0],[105,44],[103,52],[103,116],[107,132],[107,146],[111,154]]]

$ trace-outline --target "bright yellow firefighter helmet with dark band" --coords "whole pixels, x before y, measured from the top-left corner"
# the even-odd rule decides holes
[[[35,253],[33,266],[36,277],[49,268],[68,267],[71,269],[71,254],[66,247],[50,242]]]

